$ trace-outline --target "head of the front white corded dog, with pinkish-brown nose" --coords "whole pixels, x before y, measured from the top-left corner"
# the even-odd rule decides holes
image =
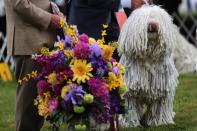
[[[159,6],[144,5],[132,12],[119,37],[119,51],[136,57],[171,53],[176,27]]]

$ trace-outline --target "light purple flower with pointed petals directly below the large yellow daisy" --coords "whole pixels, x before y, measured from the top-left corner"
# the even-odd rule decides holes
[[[70,85],[71,90],[65,95],[64,100],[66,102],[72,102],[73,105],[82,104],[83,96],[86,93],[82,86],[78,86],[76,84]]]

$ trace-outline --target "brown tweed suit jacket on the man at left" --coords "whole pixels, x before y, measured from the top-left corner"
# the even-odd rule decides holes
[[[9,55],[31,55],[52,47],[54,30],[49,28],[49,0],[5,0]]]

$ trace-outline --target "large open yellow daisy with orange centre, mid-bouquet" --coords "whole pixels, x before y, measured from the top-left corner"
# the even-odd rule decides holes
[[[70,67],[74,72],[73,81],[77,81],[78,84],[81,84],[81,82],[85,83],[86,80],[92,77],[90,73],[93,70],[92,65],[87,63],[86,60],[75,59]]]

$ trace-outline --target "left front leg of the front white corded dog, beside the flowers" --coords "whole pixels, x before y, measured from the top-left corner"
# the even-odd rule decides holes
[[[140,112],[137,109],[137,103],[135,98],[127,99],[128,111],[124,115],[119,116],[119,124],[122,128],[137,127],[140,125]]]

